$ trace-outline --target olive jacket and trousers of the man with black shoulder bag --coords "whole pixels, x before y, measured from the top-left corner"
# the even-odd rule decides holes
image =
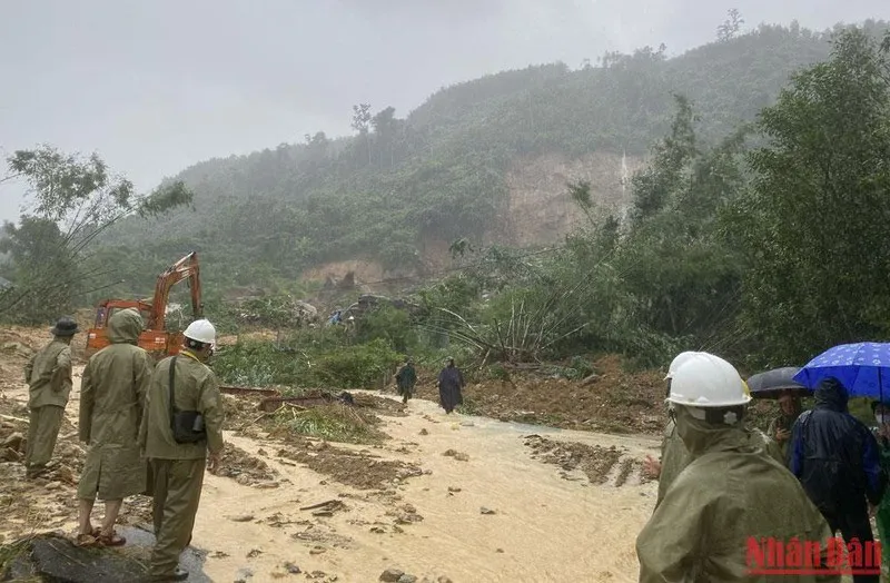
[[[184,350],[176,358],[176,407],[204,415],[207,439],[178,444],[170,428],[169,373],[174,357],[158,363],[146,397],[139,432],[154,475],[154,518],[157,542],[151,555],[152,577],[170,575],[191,540],[200,502],[208,451],[222,451],[222,398],[214,373]]]

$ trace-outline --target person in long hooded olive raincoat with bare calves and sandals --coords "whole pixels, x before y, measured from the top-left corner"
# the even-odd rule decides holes
[[[125,544],[115,533],[120,506],[125,497],[146,491],[147,468],[137,441],[155,363],[137,346],[144,327],[138,310],[116,312],[108,323],[111,345],[92,355],[83,369],[79,428],[89,452],[77,491],[80,545]],[[105,520],[93,530],[90,513],[97,495],[105,501]]]

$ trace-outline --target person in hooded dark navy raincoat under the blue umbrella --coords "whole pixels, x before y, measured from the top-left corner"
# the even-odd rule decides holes
[[[789,470],[822,512],[833,532],[849,542],[873,541],[869,505],[878,506],[887,487],[878,442],[847,409],[849,393],[837,378],[815,389],[815,407],[798,417],[791,431]],[[854,575],[853,581],[879,581]]]

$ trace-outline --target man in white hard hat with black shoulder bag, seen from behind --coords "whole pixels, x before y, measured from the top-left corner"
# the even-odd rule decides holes
[[[216,375],[205,364],[216,329],[199,319],[182,334],[182,350],[155,368],[139,432],[154,475],[152,581],[188,579],[178,566],[179,555],[191,541],[205,466],[216,471],[224,446],[222,397]]]

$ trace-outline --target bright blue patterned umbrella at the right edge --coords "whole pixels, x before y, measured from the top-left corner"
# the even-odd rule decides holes
[[[820,354],[794,375],[794,381],[815,388],[833,376],[851,397],[883,401],[890,395],[890,344],[863,342],[841,344]]]

